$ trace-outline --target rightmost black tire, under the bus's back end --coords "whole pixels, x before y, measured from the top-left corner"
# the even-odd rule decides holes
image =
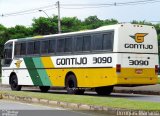
[[[97,87],[95,88],[95,91],[98,95],[110,95],[113,91],[113,86],[107,86],[107,87]]]

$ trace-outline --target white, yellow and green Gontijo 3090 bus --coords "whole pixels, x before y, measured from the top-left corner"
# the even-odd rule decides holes
[[[153,85],[158,80],[158,42],[153,26],[115,24],[93,30],[12,39],[4,45],[2,84],[20,91],[63,87],[68,94],[114,86]]]

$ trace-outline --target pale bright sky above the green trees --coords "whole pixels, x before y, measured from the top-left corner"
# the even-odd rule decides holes
[[[98,8],[71,9],[71,6],[63,4],[113,4],[119,2],[143,1],[143,0],[59,0],[61,17],[77,17],[84,20],[88,16],[97,15],[99,19],[117,19],[119,22],[137,21],[160,21],[160,0],[155,3],[125,5],[125,6],[110,6]],[[48,16],[58,14],[56,8],[57,0],[0,0],[0,24],[6,27],[14,27],[15,25],[31,26],[33,18],[47,17],[44,12],[34,10],[34,13],[24,15],[5,15],[28,9],[35,9],[43,6],[50,6],[44,11]],[[70,9],[66,9],[70,8]],[[72,6],[77,8],[77,6]],[[41,9],[39,9],[41,10]],[[4,15],[2,17],[2,14]]]

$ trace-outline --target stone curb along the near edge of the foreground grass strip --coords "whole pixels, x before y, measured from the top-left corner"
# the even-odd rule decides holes
[[[103,112],[106,112],[108,115],[119,115],[119,113],[120,114],[128,113],[130,114],[130,116],[133,114],[136,114],[136,116],[141,116],[141,114],[139,114],[140,112],[154,113],[154,111],[147,111],[147,110],[145,111],[145,110],[124,109],[124,108],[112,108],[112,107],[105,107],[105,106],[94,106],[94,105],[86,105],[86,104],[78,104],[78,103],[52,101],[52,100],[32,98],[32,97],[21,97],[21,96],[10,95],[7,93],[0,94],[0,99],[9,99],[14,101],[37,103],[37,104],[43,104],[43,105],[49,105],[49,106],[59,106],[63,108],[70,108],[73,110],[103,111]],[[160,114],[160,111],[155,111],[155,112],[157,114]]]

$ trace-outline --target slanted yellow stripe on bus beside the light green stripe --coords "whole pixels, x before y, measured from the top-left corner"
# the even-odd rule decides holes
[[[41,61],[43,63],[44,68],[46,69],[47,75],[48,75],[52,85],[55,86],[54,85],[55,80],[53,78],[53,77],[55,77],[54,70],[53,70],[54,64],[51,60],[51,57],[41,57]]]

